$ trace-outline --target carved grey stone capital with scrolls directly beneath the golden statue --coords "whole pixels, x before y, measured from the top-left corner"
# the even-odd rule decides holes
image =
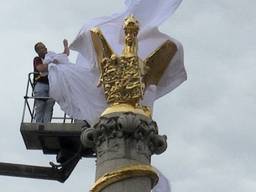
[[[165,135],[158,135],[155,121],[134,113],[113,113],[100,117],[93,128],[81,134],[82,144],[97,149],[97,155],[118,152],[120,146],[127,143],[139,153],[148,153],[148,156],[161,154],[167,148],[166,139]]]

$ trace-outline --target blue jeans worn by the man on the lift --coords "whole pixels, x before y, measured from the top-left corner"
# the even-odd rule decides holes
[[[37,82],[34,88],[35,97],[49,97],[49,85]],[[51,122],[55,101],[49,99],[35,99],[35,121],[37,123]]]

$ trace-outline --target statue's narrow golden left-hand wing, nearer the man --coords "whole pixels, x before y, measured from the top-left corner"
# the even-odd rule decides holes
[[[101,66],[101,61],[103,58],[110,58],[114,53],[108,44],[107,40],[103,36],[101,30],[97,27],[90,30],[93,46],[95,48],[95,52],[97,54],[97,60],[99,66]]]

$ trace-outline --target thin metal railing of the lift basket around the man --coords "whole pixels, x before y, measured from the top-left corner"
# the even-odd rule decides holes
[[[24,96],[24,107],[23,107],[23,113],[22,113],[22,123],[25,122],[26,112],[28,111],[29,117],[28,122],[34,122],[35,119],[35,99],[50,99],[50,97],[36,97],[34,95],[34,75],[39,74],[38,72],[30,72],[28,74],[28,81],[26,85],[26,94]],[[58,120],[62,123],[73,123],[73,119],[68,117],[66,113],[63,114],[63,116],[55,116],[53,111],[52,120]],[[68,122],[67,122],[68,121]]]

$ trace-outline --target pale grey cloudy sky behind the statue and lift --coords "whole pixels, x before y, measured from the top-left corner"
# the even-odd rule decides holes
[[[161,30],[183,43],[188,81],[155,104],[169,147],[153,165],[173,192],[256,191],[256,1],[184,0]],[[122,0],[0,0],[0,162],[48,165],[19,132],[33,46],[62,51],[89,18]],[[71,60],[75,61],[75,53]],[[88,191],[95,162],[83,159],[64,184],[0,176],[4,192]]]

